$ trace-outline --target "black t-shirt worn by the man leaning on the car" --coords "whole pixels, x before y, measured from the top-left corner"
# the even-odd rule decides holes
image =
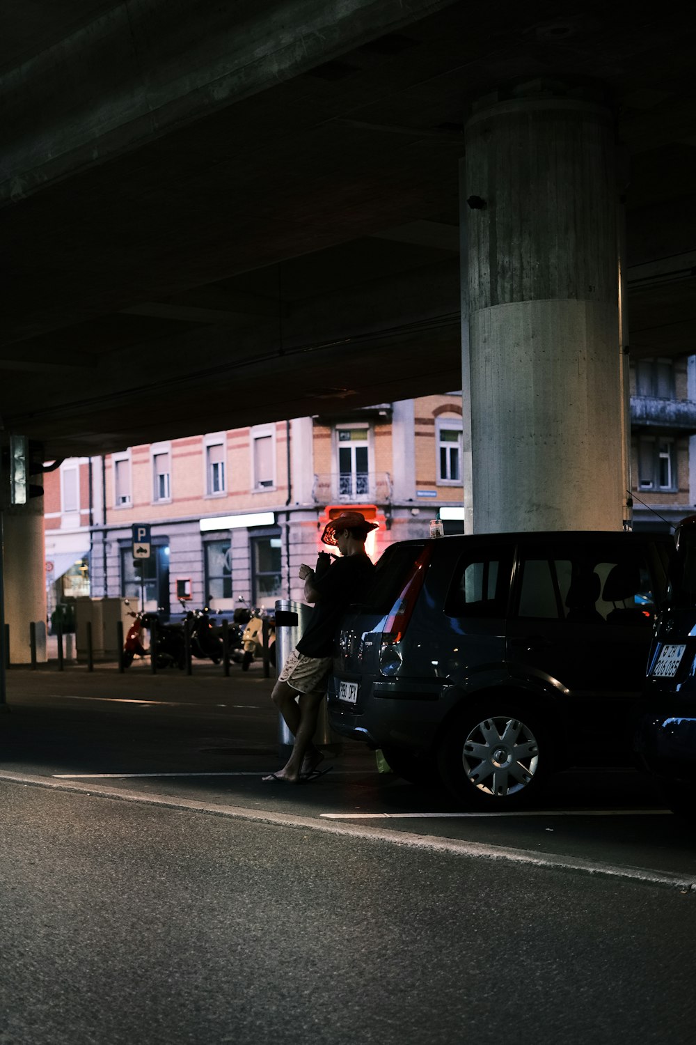
[[[364,553],[336,559],[326,574],[312,580],[317,599],[309,624],[297,643],[306,656],[331,656],[338,624],[373,579],[375,566]]]

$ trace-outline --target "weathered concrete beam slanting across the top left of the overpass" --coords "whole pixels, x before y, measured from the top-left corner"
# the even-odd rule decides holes
[[[452,0],[133,0],[0,76],[0,204],[326,64]]]

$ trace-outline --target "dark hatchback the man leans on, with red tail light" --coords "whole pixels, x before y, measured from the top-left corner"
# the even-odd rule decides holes
[[[667,534],[598,532],[390,545],[342,622],[332,727],[466,806],[515,805],[554,768],[628,763],[673,550]]]

